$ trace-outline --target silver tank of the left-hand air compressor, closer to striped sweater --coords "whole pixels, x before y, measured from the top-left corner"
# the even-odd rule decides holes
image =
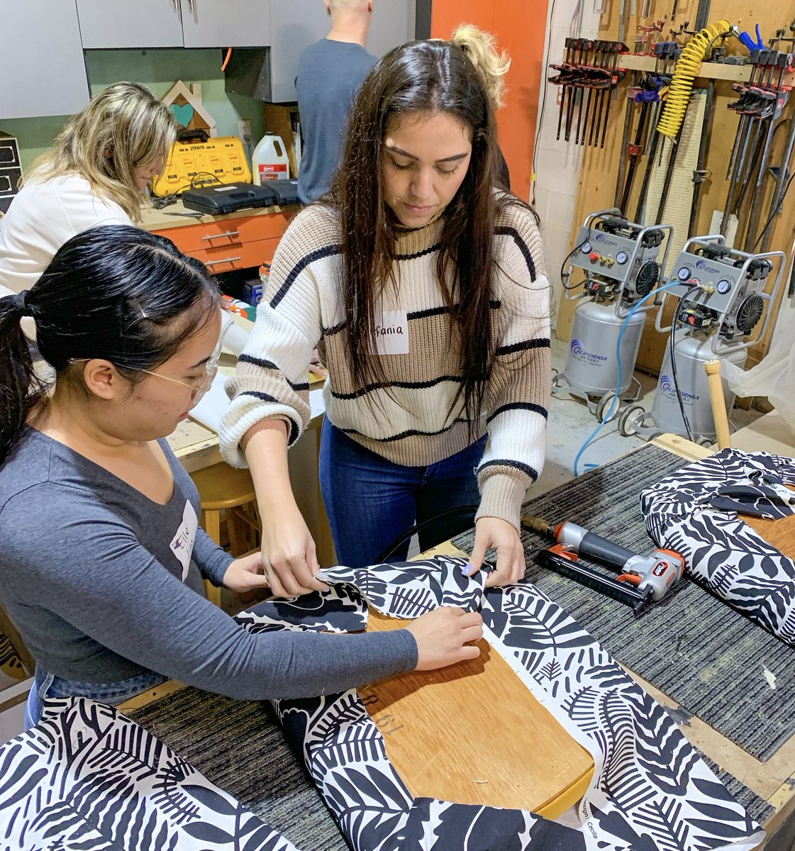
[[[625,392],[632,381],[645,318],[644,312],[636,313],[626,324],[621,338],[620,393]],[[618,382],[615,344],[623,323],[624,319],[615,315],[615,304],[583,300],[577,305],[571,326],[569,353],[563,369],[569,384],[592,396],[603,396],[615,391]]]

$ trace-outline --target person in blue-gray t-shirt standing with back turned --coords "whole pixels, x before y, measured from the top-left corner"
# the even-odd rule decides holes
[[[353,95],[377,61],[364,49],[373,0],[325,3],[331,31],[300,55],[295,78],[304,136],[298,197],[305,204],[329,191]]]

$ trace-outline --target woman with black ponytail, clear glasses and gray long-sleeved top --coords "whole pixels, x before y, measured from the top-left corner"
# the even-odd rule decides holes
[[[0,602],[36,660],[26,724],[49,696],[121,703],[167,677],[242,699],[300,697],[478,655],[478,614],[404,630],[252,634],[203,597],[267,585],[198,528],[164,438],[209,387],[214,279],[131,226],[72,237],[29,291],[0,299]],[[56,375],[43,388],[20,323]]]

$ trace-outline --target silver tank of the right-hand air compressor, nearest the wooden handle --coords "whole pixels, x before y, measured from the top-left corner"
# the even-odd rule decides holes
[[[682,397],[684,413],[687,415],[690,433],[695,443],[709,441],[715,443],[717,433],[712,419],[712,403],[709,397],[709,383],[704,371],[704,364],[718,358],[722,362],[729,361],[743,368],[748,352],[746,349],[733,351],[727,355],[715,355],[712,352],[711,340],[697,337],[683,337],[678,340],[674,350],[677,363],[677,380],[679,393]],[[735,404],[735,394],[729,391],[724,383],[726,412],[729,414]],[[671,369],[671,346],[666,346],[666,356],[662,361],[660,378],[657,380],[655,401],[651,408],[651,418],[655,426],[663,432],[687,437],[687,429],[682,420]]]

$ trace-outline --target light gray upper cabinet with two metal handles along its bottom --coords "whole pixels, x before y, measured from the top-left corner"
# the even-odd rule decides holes
[[[271,0],[77,0],[77,13],[86,49],[250,47],[271,38]]]

